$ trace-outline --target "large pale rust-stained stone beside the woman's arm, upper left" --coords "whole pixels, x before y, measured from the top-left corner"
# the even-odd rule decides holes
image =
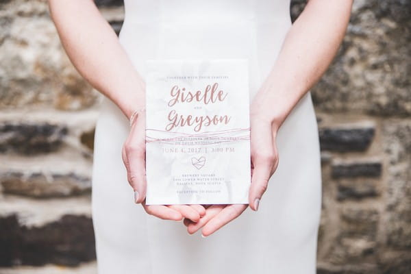
[[[0,10],[0,108],[80,110],[99,92],[66,56],[47,1],[16,0]]]

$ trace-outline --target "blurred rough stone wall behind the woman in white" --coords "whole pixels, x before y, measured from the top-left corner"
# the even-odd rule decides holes
[[[97,2],[118,33],[121,1]],[[293,19],[304,5],[292,1]],[[95,273],[90,177],[102,95],[64,54],[45,0],[1,1],[0,26],[0,273],[62,271],[45,264]],[[411,273],[410,32],[410,1],[356,0],[312,89],[318,273]]]

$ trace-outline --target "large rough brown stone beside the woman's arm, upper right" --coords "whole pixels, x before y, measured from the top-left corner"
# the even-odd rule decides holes
[[[312,88],[316,110],[411,114],[411,1],[354,1],[338,55]]]

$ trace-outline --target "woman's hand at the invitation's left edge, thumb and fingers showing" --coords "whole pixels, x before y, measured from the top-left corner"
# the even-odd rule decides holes
[[[164,220],[181,221],[183,218],[197,223],[206,214],[201,205],[149,205],[145,204],[147,178],[145,169],[145,111],[138,112],[129,136],[121,151],[127,180],[134,190],[134,202],[141,203],[148,214]]]

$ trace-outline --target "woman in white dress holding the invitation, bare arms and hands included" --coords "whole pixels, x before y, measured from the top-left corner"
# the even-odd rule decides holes
[[[99,273],[315,273],[321,160],[310,88],[352,2],[309,0],[291,23],[289,0],[125,0],[118,38],[92,0],[49,0],[71,62],[104,95],[92,174]],[[145,60],[169,58],[249,59],[249,204],[145,204]],[[193,236],[200,230],[206,238]]]

